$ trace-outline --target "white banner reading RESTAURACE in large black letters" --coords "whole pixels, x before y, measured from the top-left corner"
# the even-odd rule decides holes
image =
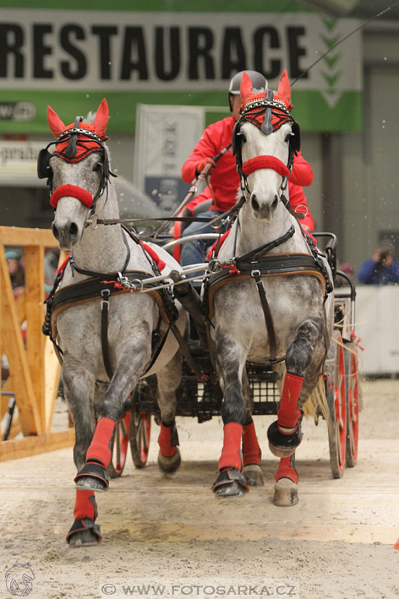
[[[341,20],[334,37],[345,35]],[[353,26],[353,21],[350,21]],[[0,80],[11,87],[224,89],[238,70],[297,78],[324,51],[325,25],[312,13],[129,13],[1,11]],[[353,39],[355,42],[355,39]],[[349,42],[348,42],[349,43]],[[355,44],[356,47],[356,44]],[[341,64],[346,88],[360,69]],[[317,89],[311,72],[299,87]]]

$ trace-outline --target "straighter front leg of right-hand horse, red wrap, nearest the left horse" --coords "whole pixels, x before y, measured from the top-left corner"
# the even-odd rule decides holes
[[[218,332],[217,332],[218,333]],[[217,371],[221,375],[223,447],[220,455],[219,476],[212,490],[219,497],[243,495],[249,490],[246,478],[241,474],[241,438],[246,421],[246,400],[243,396],[242,373],[246,353],[232,338],[224,333],[216,334]]]

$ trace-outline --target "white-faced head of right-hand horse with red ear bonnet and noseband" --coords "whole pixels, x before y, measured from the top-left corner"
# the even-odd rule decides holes
[[[284,70],[277,92],[253,93],[243,73],[240,87],[241,118],[233,132],[237,168],[253,216],[270,222],[299,149],[299,127],[290,116],[291,87]]]

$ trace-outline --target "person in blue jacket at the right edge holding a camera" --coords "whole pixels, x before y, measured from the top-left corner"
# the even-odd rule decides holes
[[[366,285],[399,283],[399,262],[394,260],[395,248],[390,240],[383,240],[372,258],[360,266],[357,278]]]

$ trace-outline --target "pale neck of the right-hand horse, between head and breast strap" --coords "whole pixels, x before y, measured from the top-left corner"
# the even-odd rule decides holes
[[[251,250],[261,247],[266,243],[278,240],[287,233],[291,225],[295,228],[295,234],[289,240],[270,250],[271,254],[281,252],[306,252],[308,247],[300,232],[296,218],[289,214],[284,204],[280,201],[270,223],[258,221],[253,216],[249,200],[243,205],[239,218],[234,223],[234,231],[237,230],[236,256],[241,256]]]

